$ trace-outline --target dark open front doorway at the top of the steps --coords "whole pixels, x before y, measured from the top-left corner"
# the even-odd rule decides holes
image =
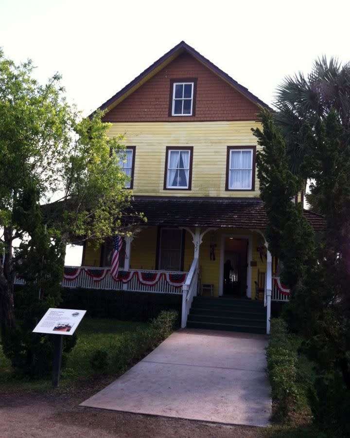
[[[247,293],[248,239],[225,237],[223,294],[245,297]]]

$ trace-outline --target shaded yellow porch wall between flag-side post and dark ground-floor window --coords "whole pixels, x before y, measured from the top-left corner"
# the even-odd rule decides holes
[[[147,227],[131,243],[130,268],[156,269],[157,227]]]

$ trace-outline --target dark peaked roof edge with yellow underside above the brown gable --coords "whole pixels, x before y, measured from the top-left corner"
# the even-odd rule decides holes
[[[148,79],[162,70],[165,66],[167,66],[171,61],[173,61],[177,56],[182,53],[188,53],[192,55],[197,61],[204,64],[208,67],[213,73],[217,74],[221,79],[243,94],[247,99],[256,104],[257,106],[262,106],[264,108],[270,107],[260,100],[257,96],[251,93],[247,88],[243,87],[243,85],[239,84],[235,81],[231,76],[225,73],[223,70],[219,69],[215,64],[213,64],[209,59],[201,55],[199,52],[193,49],[193,47],[189,46],[185,43],[185,41],[179,42],[175,47],[173,47],[169,52],[165,55],[161,56],[150,65],[146,70],[139,74],[135,79],[129,82],[125,87],[118,91],[114,96],[109,98],[103,103],[98,110],[111,110],[120,102],[122,102],[127,96],[136,91],[143,83],[145,83]],[[93,114],[93,113],[92,113]],[[91,114],[91,115],[92,115]]]

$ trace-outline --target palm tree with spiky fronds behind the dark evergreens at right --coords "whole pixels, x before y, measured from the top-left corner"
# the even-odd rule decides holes
[[[276,124],[288,145],[291,170],[298,173],[305,148],[301,127],[311,126],[318,117],[323,119],[331,109],[337,111],[345,128],[344,145],[350,139],[350,63],[341,65],[334,57],[326,56],[314,62],[311,73],[299,72],[286,76],[277,88],[274,105],[277,109]]]

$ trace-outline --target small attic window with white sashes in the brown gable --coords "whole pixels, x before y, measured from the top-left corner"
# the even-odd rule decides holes
[[[196,79],[171,81],[169,116],[193,116],[195,107]]]

